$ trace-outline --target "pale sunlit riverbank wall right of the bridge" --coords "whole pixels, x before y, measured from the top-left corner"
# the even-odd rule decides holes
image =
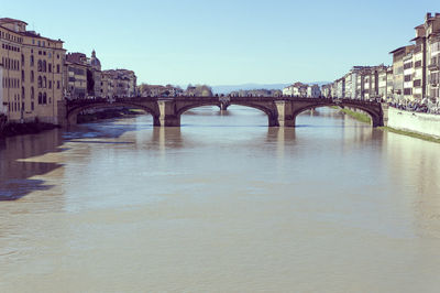
[[[440,116],[388,108],[386,127],[440,138]]]

